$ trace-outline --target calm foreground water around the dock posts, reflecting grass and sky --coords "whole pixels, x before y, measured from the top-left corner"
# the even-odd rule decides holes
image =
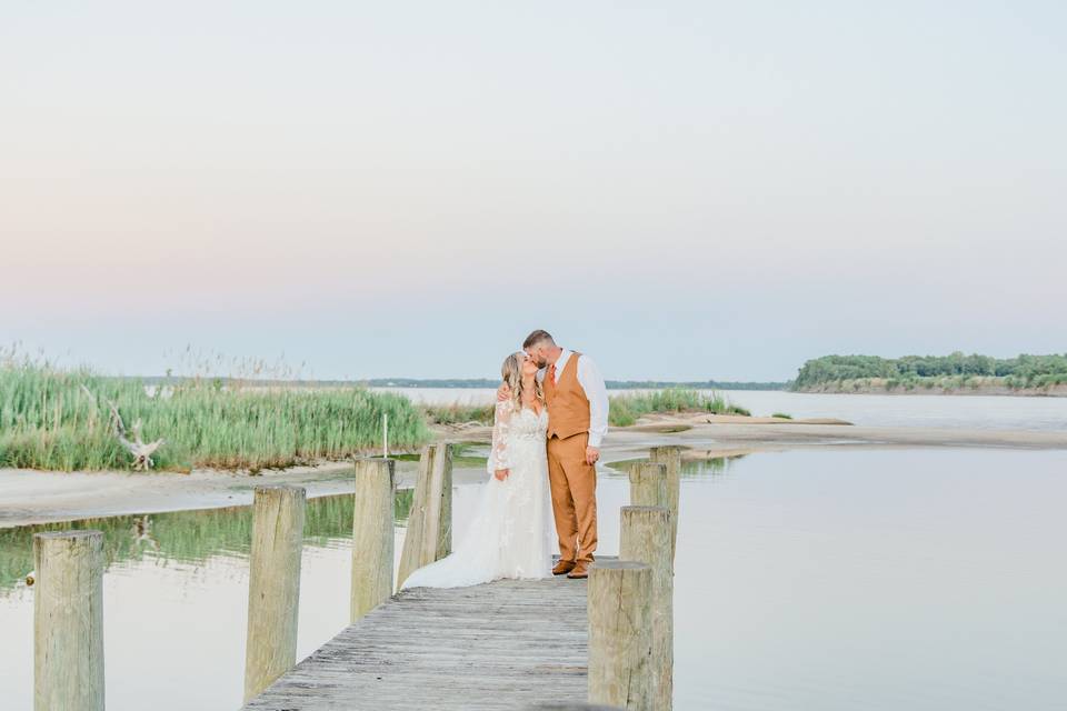
[[[456,492],[457,527],[477,487]],[[605,472],[601,552],[628,487]],[[1067,452],[812,450],[688,468],[676,708],[1063,709]],[[398,502],[402,521],[408,502]],[[299,654],[347,622],[351,502],[309,504]],[[96,521],[108,708],[240,705],[248,509]],[[0,531],[0,698],[32,708],[30,529]],[[398,527],[398,542],[402,529]],[[158,548],[157,548],[158,545]]]

